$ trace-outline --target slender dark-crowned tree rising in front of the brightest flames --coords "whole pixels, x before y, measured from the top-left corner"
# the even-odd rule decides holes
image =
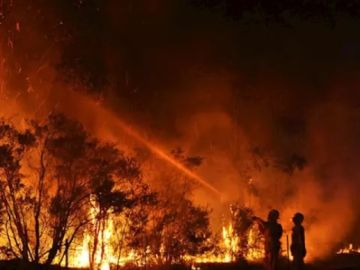
[[[124,182],[132,185],[140,181],[140,169],[134,159],[126,158],[112,145],[98,147],[91,158],[91,202],[95,211],[92,221],[90,268],[95,265],[96,251],[100,246],[100,263],[104,258],[104,233],[110,215],[119,214],[125,208],[133,207],[136,198],[134,187],[124,188]],[[130,184],[131,183],[131,184]],[[100,238],[100,239],[99,239]]]

